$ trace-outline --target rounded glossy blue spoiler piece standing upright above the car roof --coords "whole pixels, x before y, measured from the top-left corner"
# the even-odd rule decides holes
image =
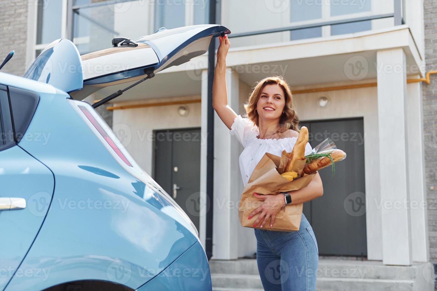
[[[65,92],[83,88],[82,60],[68,39],[53,41],[32,63],[24,78],[50,84]]]

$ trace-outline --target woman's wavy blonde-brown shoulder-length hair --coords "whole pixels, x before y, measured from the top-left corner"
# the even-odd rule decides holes
[[[246,110],[245,117],[251,120],[256,126],[259,126],[259,115],[257,110],[255,110],[255,106],[260,99],[260,93],[262,92],[264,86],[269,84],[277,84],[281,86],[282,90],[284,91],[285,106],[284,112],[279,120],[279,131],[284,132],[285,130],[291,129],[300,132],[299,118],[294,108],[295,106],[293,102],[293,95],[291,94],[291,88],[282,76],[267,77],[256,83],[252,93],[250,93],[249,99],[244,104],[244,109]]]

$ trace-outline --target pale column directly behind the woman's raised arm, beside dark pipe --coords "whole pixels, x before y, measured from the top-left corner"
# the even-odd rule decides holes
[[[228,104],[238,112],[239,78],[228,68],[226,72]],[[232,260],[238,257],[239,143],[229,129],[214,116],[214,230],[212,258]]]

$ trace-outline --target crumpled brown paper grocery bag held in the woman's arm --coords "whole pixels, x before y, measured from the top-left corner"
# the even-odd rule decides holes
[[[306,187],[317,174],[317,172],[311,175],[303,174],[301,178],[289,181],[287,178],[282,177],[277,171],[280,161],[281,157],[266,153],[253,170],[248,183],[243,189],[243,194],[241,194],[239,202],[238,215],[241,226],[253,228],[253,223],[255,223],[259,214],[251,219],[247,219],[247,217],[264,202],[253,195],[253,192],[258,194],[277,194],[279,192],[298,190]],[[298,173],[302,173],[305,162],[306,159],[298,163]],[[303,203],[285,206],[275,216],[273,227],[270,227],[270,224],[268,224],[265,225],[263,229],[275,231],[299,230],[302,208]],[[259,228],[259,226],[256,228]]]

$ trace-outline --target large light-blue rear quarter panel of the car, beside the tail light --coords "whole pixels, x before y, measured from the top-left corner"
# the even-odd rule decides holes
[[[6,77],[0,81],[3,85],[17,85],[19,77]],[[19,79],[21,88],[34,89],[32,81]],[[20,266],[39,270],[39,276],[15,276],[6,290],[42,290],[74,280],[138,288],[153,278],[144,269],[168,266],[198,238],[173,206],[114,160],[73,110],[65,92],[42,91],[26,134],[48,138],[23,138],[18,146],[53,171],[55,191],[45,222]],[[105,202],[110,205],[107,209]],[[17,215],[22,211],[16,210]],[[126,282],[118,280],[114,264],[119,262],[130,266]]]

